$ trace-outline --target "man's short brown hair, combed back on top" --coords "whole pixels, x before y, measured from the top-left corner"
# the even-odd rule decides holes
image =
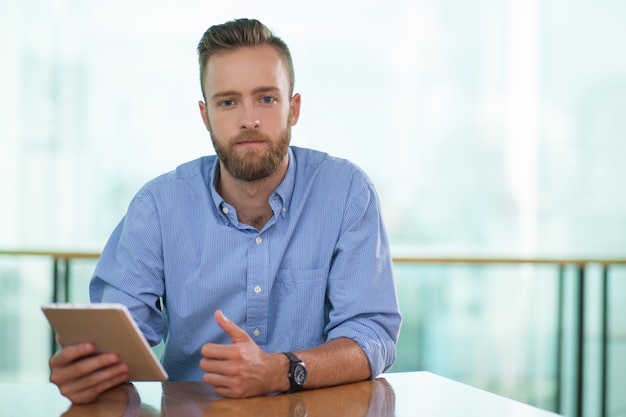
[[[289,95],[293,94],[295,75],[293,61],[287,44],[256,19],[235,19],[220,25],[211,26],[204,32],[198,43],[200,64],[200,87],[204,97],[204,75],[209,58],[218,52],[231,51],[241,47],[270,45],[285,61],[289,75]],[[206,100],[206,97],[204,97]]]

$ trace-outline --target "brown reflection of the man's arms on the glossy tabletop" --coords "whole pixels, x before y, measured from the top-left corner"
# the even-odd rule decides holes
[[[156,383],[124,384],[93,404],[73,405],[64,417],[269,417],[269,416],[385,416],[394,415],[394,393],[384,378],[294,394],[244,399],[215,395],[202,382],[161,384],[160,404],[143,403],[140,391]],[[371,412],[370,412],[371,410]],[[374,414],[372,414],[372,412]]]

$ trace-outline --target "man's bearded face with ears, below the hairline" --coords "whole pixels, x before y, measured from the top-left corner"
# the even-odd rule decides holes
[[[215,151],[235,178],[273,174],[287,155],[300,96],[289,96],[287,68],[269,45],[212,56],[204,79],[202,119]]]

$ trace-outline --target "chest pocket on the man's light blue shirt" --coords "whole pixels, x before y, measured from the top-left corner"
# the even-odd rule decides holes
[[[278,271],[270,309],[275,337],[284,349],[309,349],[325,342],[328,268]]]

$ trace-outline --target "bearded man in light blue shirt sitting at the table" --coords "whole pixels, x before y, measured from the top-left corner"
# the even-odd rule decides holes
[[[250,397],[375,377],[400,314],[378,198],[348,161],[290,147],[300,116],[284,42],[256,20],[198,45],[202,120],[217,156],[147,183],[105,246],[93,302],[128,306],[165,341],[171,380]],[[74,403],[127,380],[89,343],[50,360]]]

